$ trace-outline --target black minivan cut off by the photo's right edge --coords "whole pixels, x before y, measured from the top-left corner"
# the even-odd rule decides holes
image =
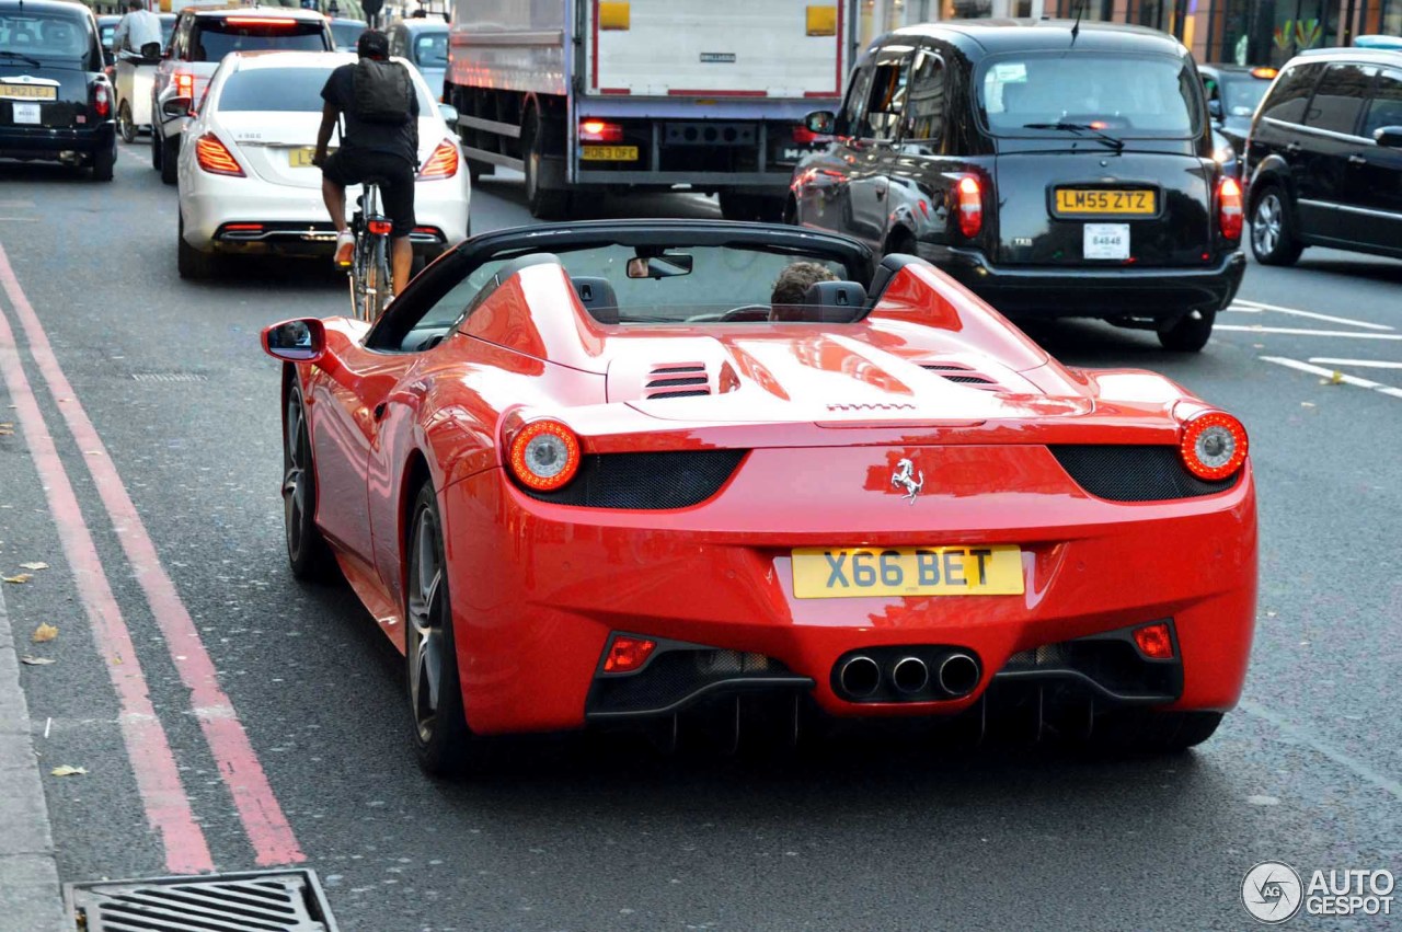
[[[1307,245],[1402,258],[1402,50],[1328,49],[1280,70],[1245,156],[1251,251]]]

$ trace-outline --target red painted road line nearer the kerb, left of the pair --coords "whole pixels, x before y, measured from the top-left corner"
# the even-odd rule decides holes
[[[112,584],[102,569],[93,534],[83,519],[67,470],[53,446],[39,402],[20,363],[10,321],[0,310],[0,371],[15,406],[20,429],[24,432],[29,458],[43,484],[49,513],[59,531],[63,555],[73,570],[79,601],[93,629],[93,643],[101,655],[102,666],[116,692],[126,758],[136,776],[146,821],[160,835],[165,848],[165,869],[171,873],[206,873],[215,869],[205,832],[195,821],[189,796],[179,782],[175,755],[171,753],[165,729],[151,708],[146,674],[132,646],[132,635],[122,611],[112,596]],[[121,663],[118,663],[121,662]]]

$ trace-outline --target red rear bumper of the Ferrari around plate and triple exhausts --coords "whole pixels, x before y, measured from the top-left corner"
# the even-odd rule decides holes
[[[1025,684],[1110,705],[1235,705],[1256,601],[1249,464],[1220,492],[1108,502],[1046,447],[965,447],[939,454],[948,468],[927,470],[910,503],[889,489],[892,451],[820,455],[751,451],[714,498],[658,512],[540,502],[501,470],[443,489],[457,643],[471,645],[460,657],[470,726],[568,729],[756,691],[808,695],[847,718],[955,715],[993,687]],[[484,514],[499,516],[498,535],[481,533]],[[795,594],[795,548],[1011,544],[1022,594]],[[1151,622],[1173,632],[1168,660],[1129,638]],[[606,676],[618,632],[658,640],[648,667],[666,676]],[[861,697],[837,676],[854,656],[883,677],[914,656],[934,681],[952,653],[974,662],[967,688]]]

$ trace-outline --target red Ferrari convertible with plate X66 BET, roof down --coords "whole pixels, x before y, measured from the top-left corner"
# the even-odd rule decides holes
[[[794,263],[813,282],[771,303]],[[407,657],[421,764],[747,709],[1180,750],[1256,607],[1246,433],[792,227],[478,235],[373,327],[269,327],[294,575]],[[653,727],[658,730],[658,727]]]

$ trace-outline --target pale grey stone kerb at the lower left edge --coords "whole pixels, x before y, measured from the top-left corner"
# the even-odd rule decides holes
[[[34,755],[29,709],[20,688],[4,593],[0,591],[0,925],[27,932],[72,932],[64,922],[49,807]]]

